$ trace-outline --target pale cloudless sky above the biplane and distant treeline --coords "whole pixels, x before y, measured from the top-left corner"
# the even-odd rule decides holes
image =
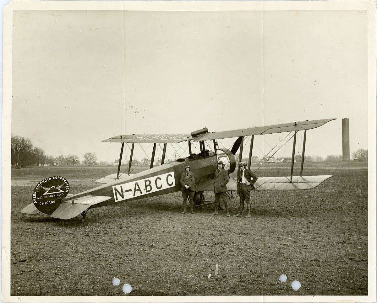
[[[352,154],[368,149],[367,25],[364,10],[15,10],[11,132],[113,162],[120,144],[101,141],[121,134],[336,118],[307,132],[305,155],[325,158],[342,155],[348,118]],[[258,136],[253,155],[285,135]]]

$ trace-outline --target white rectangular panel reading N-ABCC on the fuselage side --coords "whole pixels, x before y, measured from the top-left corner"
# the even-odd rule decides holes
[[[113,186],[115,202],[175,187],[174,172]]]

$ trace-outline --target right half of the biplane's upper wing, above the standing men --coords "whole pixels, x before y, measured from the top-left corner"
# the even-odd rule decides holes
[[[253,128],[243,128],[236,129],[233,131],[219,131],[219,132],[209,132],[207,134],[201,134],[195,137],[194,142],[202,140],[214,140],[214,139],[225,139],[233,137],[243,137],[251,135],[267,135],[275,134],[278,132],[288,132],[288,131],[302,131],[305,129],[317,128],[333,119],[323,119],[323,120],[311,120],[311,121],[300,121],[300,122],[291,122],[267,126],[259,126]]]

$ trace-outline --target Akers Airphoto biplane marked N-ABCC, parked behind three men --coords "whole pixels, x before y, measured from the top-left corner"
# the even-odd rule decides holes
[[[190,164],[190,170],[195,174],[195,206],[202,206],[203,203],[213,202],[205,200],[204,192],[213,191],[213,178],[218,161],[224,163],[224,168],[229,174],[237,167],[236,152],[239,151],[239,159],[242,159],[244,148],[244,137],[250,140],[248,157],[248,168],[250,169],[253,152],[253,142],[255,135],[267,135],[274,133],[292,133],[293,150],[291,161],[291,174],[285,177],[259,177],[254,184],[255,190],[303,190],[312,189],[321,184],[331,175],[304,176],[303,163],[305,155],[306,132],[308,129],[317,128],[335,119],[311,120],[268,125],[254,128],[244,128],[232,131],[208,132],[207,128],[199,129],[191,134],[131,134],[111,137],[102,142],[121,143],[120,161],[116,174],[108,175],[98,179],[97,183],[101,186],[86,190],[81,193],[70,195],[68,181],[60,176],[48,177],[42,180],[35,187],[32,198],[33,202],[21,210],[21,213],[35,215],[45,213],[53,218],[71,219],[78,215],[86,217],[88,210],[107,206],[116,203],[134,201],[141,198],[174,193],[181,190],[180,178],[186,164]],[[300,175],[293,176],[294,155],[296,149],[296,134],[303,131],[302,157],[300,165]],[[218,148],[219,139],[237,138],[230,149]],[[169,143],[186,142],[189,149],[187,157],[178,158],[173,161],[165,162],[166,147]],[[121,159],[124,144],[132,144],[131,155],[128,164],[128,173],[120,173]],[[133,150],[135,143],[153,144],[150,168],[130,174]],[[163,143],[161,164],[153,167],[156,153],[156,144]],[[199,143],[200,152],[192,152],[192,143]],[[208,150],[212,146],[213,150]],[[198,150],[199,151],[199,150]],[[236,190],[236,180],[230,178],[228,191]],[[230,203],[228,199],[221,200],[220,208],[225,209],[224,203]]]

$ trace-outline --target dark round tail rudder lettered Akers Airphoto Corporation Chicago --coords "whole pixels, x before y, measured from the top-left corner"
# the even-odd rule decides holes
[[[69,192],[69,183],[60,176],[40,181],[33,190],[33,203],[38,210],[51,215],[60,206],[60,200]]]

